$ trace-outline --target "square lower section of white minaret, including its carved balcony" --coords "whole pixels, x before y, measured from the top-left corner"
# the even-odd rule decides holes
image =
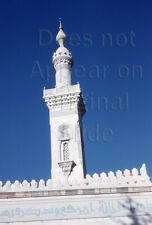
[[[69,180],[84,178],[83,150],[81,140],[80,85],[44,90],[44,99],[49,109],[51,130],[51,176],[53,180],[64,182],[67,176],[59,167],[63,161],[72,161],[73,168]],[[66,134],[61,129],[67,127]],[[65,136],[64,136],[65,135]],[[63,160],[62,144],[67,142],[69,159]]]

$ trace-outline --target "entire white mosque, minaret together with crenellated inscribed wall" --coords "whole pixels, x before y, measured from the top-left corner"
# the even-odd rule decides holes
[[[2,225],[152,224],[152,183],[138,171],[86,174],[79,84],[72,84],[72,55],[60,21],[53,54],[56,86],[44,89],[51,133],[51,179],[0,182]]]

